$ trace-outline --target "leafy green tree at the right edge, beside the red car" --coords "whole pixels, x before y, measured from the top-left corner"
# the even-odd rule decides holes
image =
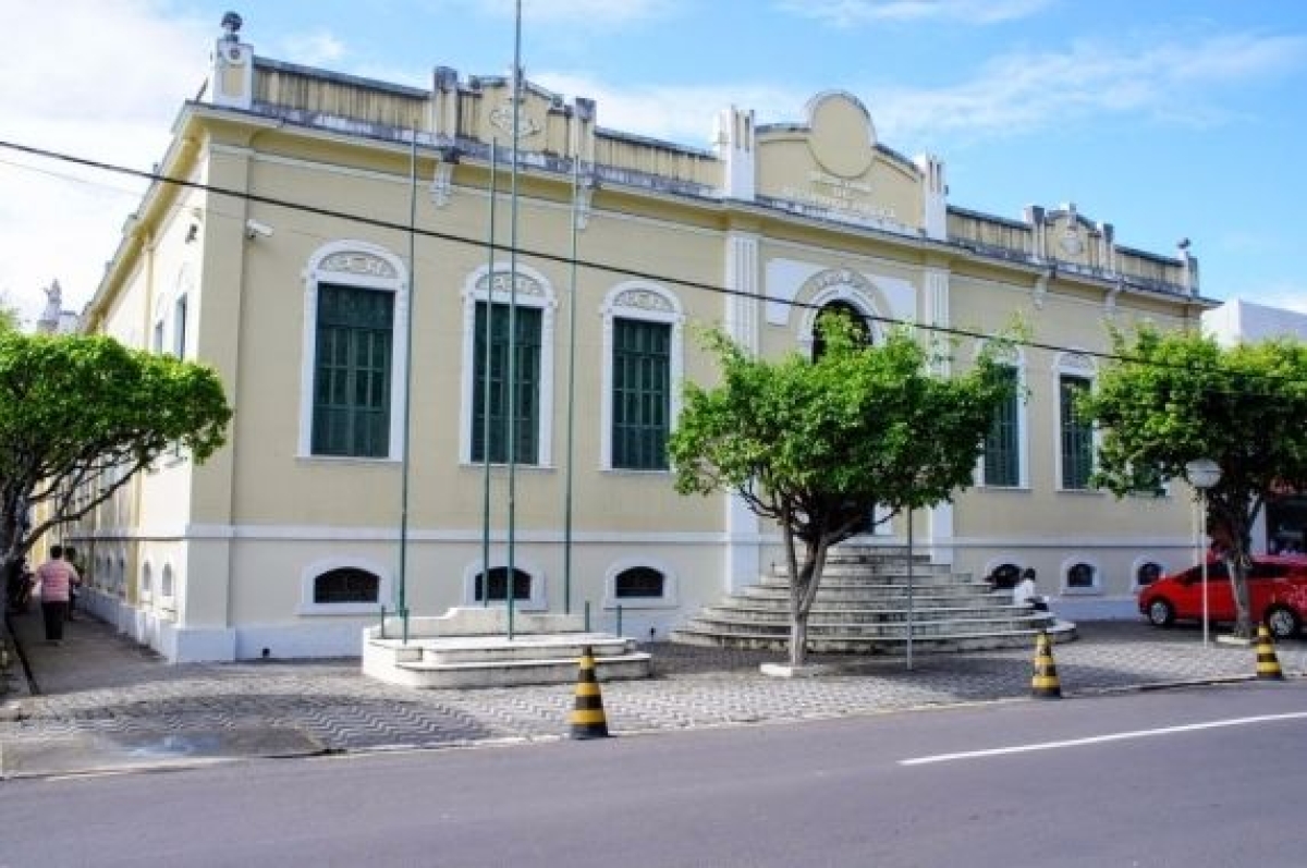
[[[1307,345],[1268,340],[1222,348],[1195,332],[1141,327],[1114,335],[1112,362],[1078,405],[1102,431],[1095,484],[1117,497],[1184,478],[1210,459],[1206,527],[1223,544],[1238,622],[1252,634],[1251,532],[1266,495],[1307,485]]]

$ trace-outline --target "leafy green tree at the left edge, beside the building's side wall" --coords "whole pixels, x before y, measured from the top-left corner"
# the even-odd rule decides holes
[[[165,452],[203,463],[230,418],[208,366],[106,336],[0,331],[5,576],[43,533],[86,516]]]

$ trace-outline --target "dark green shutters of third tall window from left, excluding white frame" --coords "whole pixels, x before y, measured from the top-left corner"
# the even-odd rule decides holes
[[[613,467],[667,469],[672,327],[613,320]]]

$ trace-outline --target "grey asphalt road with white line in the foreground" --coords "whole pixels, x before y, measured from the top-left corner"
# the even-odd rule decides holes
[[[0,867],[1297,867],[1304,737],[1248,682],[12,780]]]

